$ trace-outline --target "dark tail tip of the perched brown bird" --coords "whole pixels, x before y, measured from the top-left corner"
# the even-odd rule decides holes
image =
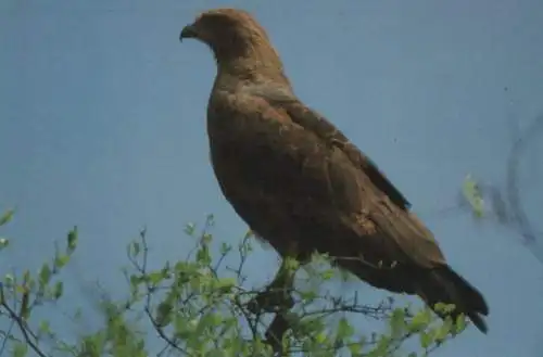
[[[443,266],[429,271],[427,279],[422,279],[417,294],[432,308],[437,303],[454,304],[456,309],[452,314],[453,318],[465,314],[481,332],[488,332],[487,323],[481,316],[489,315],[484,297],[451,267]]]

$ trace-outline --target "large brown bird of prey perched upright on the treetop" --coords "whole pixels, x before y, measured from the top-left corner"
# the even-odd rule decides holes
[[[409,203],[330,122],[293,93],[247,12],[202,13],[181,31],[217,62],[207,106],[212,164],[239,216],[281,256],[317,251],[369,284],[455,304],[483,332],[489,308],[456,273]]]

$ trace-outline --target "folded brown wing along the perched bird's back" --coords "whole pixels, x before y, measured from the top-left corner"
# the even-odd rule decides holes
[[[338,128],[292,95],[269,89],[263,91],[261,88],[257,97],[266,102],[265,112],[275,113],[283,127],[295,125],[303,128],[289,130],[290,138],[285,140],[290,140],[291,145],[282,150],[292,150],[296,145],[316,146],[317,142],[328,148],[328,154],[321,152],[315,157],[324,162],[328,155],[326,171],[317,174],[320,179],[312,179],[325,180],[326,176],[330,200],[348,215],[346,218],[340,218],[342,214],[333,213],[346,226],[351,226],[349,230],[352,234],[344,235],[353,241],[346,242],[346,245],[362,244],[359,247],[364,246],[363,251],[376,253],[377,260],[411,262],[420,267],[445,264],[433,234],[409,212],[407,200]],[[364,212],[366,217],[359,216]],[[366,224],[361,224],[361,219],[366,220]],[[364,237],[363,241],[361,237]]]

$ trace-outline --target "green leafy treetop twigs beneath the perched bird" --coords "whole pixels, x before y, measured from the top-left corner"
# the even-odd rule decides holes
[[[13,213],[0,219],[7,224]],[[429,309],[413,311],[397,307],[392,298],[378,306],[361,304],[354,296],[334,296],[319,289],[296,288],[294,305],[277,304],[273,314],[255,309],[258,291],[247,288],[244,267],[253,252],[249,232],[238,244],[215,244],[209,217],[201,230],[187,225],[185,233],[197,241],[179,262],[149,268],[147,232],[127,246],[129,266],[125,298],[100,299],[103,327],[80,335],[75,342],[52,331],[47,320],[38,320],[38,308],[62,304],[64,285],[59,272],[66,268],[77,248],[77,228],[35,275],[5,275],[0,290],[0,314],[10,324],[2,330],[0,354],[22,357],[43,356],[426,356],[466,327],[463,317],[438,321]],[[7,246],[7,244],[4,245]],[[218,255],[212,252],[217,251]],[[236,266],[226,264],[236,262]],[[334,272],[315,256],[306,269],[318,284],[331,281]],[[317,266],[317,268],[313,268]],[[286,269],[296,270],[296,262]],[[318,285],[317,284],[317,285]],[[282,296],[282,295],[280,295]],[[442,306],[446,311],[451,306]],[[84,317],[85,314],[80,313]],[[386,321],[386,330],[369,335],[353,326],[363,316]],[[454,322],[454,323],[453,323]],[[417,341],[420,348],[406,350],[405,342]],[[412,344],[413,345],[413,344]]]

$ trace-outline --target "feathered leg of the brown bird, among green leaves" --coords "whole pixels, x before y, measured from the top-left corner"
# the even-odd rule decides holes
[[[282,259],[272,283],[248,303],[248,309],[253,314],[257,314],[258,311],[275,313],[292,308],[294,298],[291,296],[291,292],[294,288],[296,271],[298,264],[293,265],[289,258]]]

